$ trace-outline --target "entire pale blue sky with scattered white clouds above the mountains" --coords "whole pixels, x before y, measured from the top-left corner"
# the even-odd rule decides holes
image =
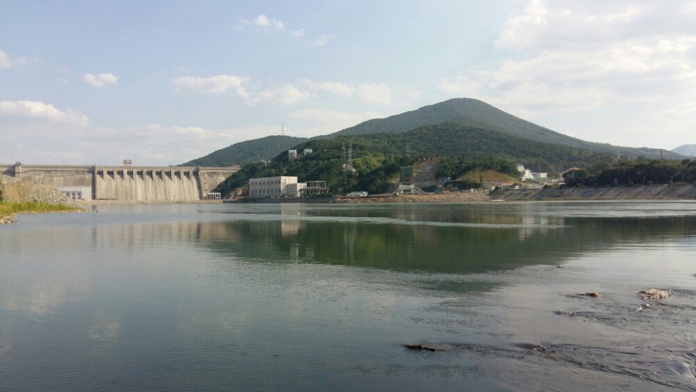
[[[696,143],[696,1],[1,1],[0,164],[187,162],[454,97]]]

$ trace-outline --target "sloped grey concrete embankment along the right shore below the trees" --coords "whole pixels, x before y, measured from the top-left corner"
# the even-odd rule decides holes
[[[510,189],[489,194],[491,201],[696,200],[694,185],[640,187]]]

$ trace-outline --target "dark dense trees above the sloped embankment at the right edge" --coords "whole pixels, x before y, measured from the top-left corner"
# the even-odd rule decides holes
[[[568,187],[694,184],[696,160],[623,159],[616,163],[596,162],[586,168],[564,173],[563,179]]]

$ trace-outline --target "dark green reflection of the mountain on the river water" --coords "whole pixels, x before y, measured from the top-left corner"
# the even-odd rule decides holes
[[[539,214],[472,214],[454,216],[446,209],[425,213],[370,211],[356,217],[400,221],[322,221],[303,215],[265,215],[202,224],[214,226],[215,240],[200,237],[212,251],[244,260],[301,260],[401,271],[473,273],[521,265],[557,264],[592,251],[632,242],[662,242],[690,230],[687,218],[564,218]],[[351,214],[349,210],[336,214]],[[327,215],[328,217],[328,215]],[[274,220],[277,218],[277,220]],[[487,227],[432,226],[475,223]],[[693,223],[693,222],[692,222]],[[221,234],[224,233],[224,234]],[[226,240],[220,240],[226,237]]]

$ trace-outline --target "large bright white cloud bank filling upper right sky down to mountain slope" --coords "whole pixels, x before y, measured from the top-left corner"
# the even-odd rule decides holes
[[[695,4],[529,1],[495,40],[504,61],[462,70],[438,88],[583,139],[685,143],[696,122],[681,105],[696,102]]]

